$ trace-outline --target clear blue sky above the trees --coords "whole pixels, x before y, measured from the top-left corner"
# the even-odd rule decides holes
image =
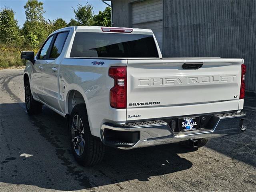
[[[64,19],[67,23],[71,18],[75,19],[73,8],[77,8],[78,4],[85,5],[86,2],[92,4],[94,14],[103,11],[107,5],[101,0],[38,0],[44,3],[44,18],[46,20],[56,20],[57,18]],[[18,25],[22,28],[26,21],[24,5],[27,0],[0,0],[0,9],[12,8],[15,12],[15,19],[18,20]],[[106,1],[110,4],[110,1]]]

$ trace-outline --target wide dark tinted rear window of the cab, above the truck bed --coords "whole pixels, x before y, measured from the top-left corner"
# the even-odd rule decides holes
[[[152,35],[76,32],[70,57],[154,58],[158,51]]]

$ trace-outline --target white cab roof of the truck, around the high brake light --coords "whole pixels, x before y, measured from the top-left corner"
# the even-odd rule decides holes
[[[74,30],[74,32],[122,33],[122,32],[103,32],[102,28],[127,29],[125,27],[122,28],[122,27],[100,27],[100,26],[70,26],[70,27],[65,27],[65,28],[58,29],[58,30],[52,32],[52,34],[56,33],[56,32],[61,32],[61,31],[64,31],[64,30]],[[131,28],[129,28],[129,29],[131,29]],[[148,34],[148,35],[152,35],[153,32],[150,29],[132,28],[132,32],[131,33],[126,33],[126,34]]]

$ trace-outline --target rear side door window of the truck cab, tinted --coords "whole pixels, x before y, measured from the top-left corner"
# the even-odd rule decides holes
[[[52,46],[52,51],[49,57],[50,59],[55,59],[60,55],[67,36],[68,32],[62,32],[57,35],[55,42]]]

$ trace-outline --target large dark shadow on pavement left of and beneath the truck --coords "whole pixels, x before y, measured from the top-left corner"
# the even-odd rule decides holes
[[[82,167],[71,154],[63,117],[46,107],[42,114],[28,116],[24,103],[1,104],[0,109],[0,181],[4,183],[56,190],[93,189],[108,184],[119,188],[120,182],[147,182],[152,176],[192,167],[192,162],[177,155],[189,151],[178,150],[177,144],[134,150],[107,148],[102,163]]]

